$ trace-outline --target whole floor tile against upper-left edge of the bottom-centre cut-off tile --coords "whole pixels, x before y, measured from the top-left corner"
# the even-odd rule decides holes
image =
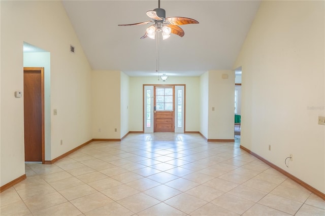
[[[124,199],[117,201],[119,204],[125,208],[138,213],[147,209],[155,204],[158,204],[160,201],[150,197],[144,193],[135,194],[133,196],[126,197]]]

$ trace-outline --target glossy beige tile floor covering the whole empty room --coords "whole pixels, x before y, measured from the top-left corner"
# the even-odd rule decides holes
[[[235,142],[199,134],[94,141],[0,194],[1,215],[325,215],[325,202]]]

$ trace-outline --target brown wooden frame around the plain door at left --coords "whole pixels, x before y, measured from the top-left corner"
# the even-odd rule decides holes
[[[44,116],[44,67],[24,67],[23,73],[25,71],[41,73],[41,103],[42,103],[42,164],[45,164],[45,116]],[[24,115],[25,120],[25,115]],[[25,133],[25,131],[24,131]],[[25,151],[25,149],[24,149]]]

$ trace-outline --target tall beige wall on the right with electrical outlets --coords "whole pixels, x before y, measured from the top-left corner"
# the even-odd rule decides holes
[[[322,193],[324,38],[323,1],[263,1],[234,65],[243,71],[241,145]]]

